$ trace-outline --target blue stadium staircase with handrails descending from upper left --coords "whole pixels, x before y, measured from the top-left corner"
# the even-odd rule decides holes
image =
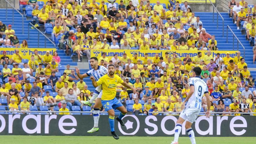
[[[22,42],[22,40],[27,40],[29,48],[53,48],[54,45],[47,40],[46,41],[46,47],[45,47],[45,36],[42,34],[39,34],[39,47],[38,47],[38,31],[36,29],[31,29],[31,26],[29,26],[29,22],[31,20],[27,20],[26,15],[24,16],[24,33],[22,34],[22,16],[14,11],[14,23],[12,20],[13,16],[13,10],[12,9],[7,9],[7,19],[6,19],[6,9],[0,9],[0,21],[3,22],[3,24],[6,24],[7,26],[9,24],[12,25],[12,29],[15,30],[15,35],[17,35],[19,39],[19,43]],[[28,29],[29,29],[29,37],[28,37]],[[51,39],[51,38],[50,38]],[[81,66],[81,64],[77,62],[73,62],[71,56],[66,56],[64,50],[59,50],[58,47],[56,47],[58,56],[61,58],[61,65],[67,65],[70,64],[71,69],[74,68],[75,66]],[[3,48],[0,48],[1,50]],[[87,64],[87,63],[86,63]],[[81,66],[82,67],[82,66]],[[81,69],[81,73],[85,73],[88,71],[88,69]],[[84,81],[88,85],[88,89],[90,91],[93,91],[95,88],[92,85],[92,82],[90,81],[89,78],[85,78]]]

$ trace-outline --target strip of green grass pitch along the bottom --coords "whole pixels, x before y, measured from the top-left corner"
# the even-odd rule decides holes
[[[196,137],[197,144],[255,144],[256,137]],[[157,136],[120,136],[115,140],[112,136],[0,136],[3,144],[170,144],[173,137]],[[189,137],[180,137],[179,144],[190,144]]]

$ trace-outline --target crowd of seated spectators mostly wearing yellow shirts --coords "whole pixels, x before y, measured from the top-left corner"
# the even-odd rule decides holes
[[[106,5],[104,1],[98,5],[95,0],[90,4],[86,0],[82,3],[54,0],[47,2],[41,10],[38,10],[36,3],[34,8],[33,14],[38,13],[33,19],[40,24],[53,24],[52,40],[61,35],[61,48],[72,49],[78,54],[79,62],[83,54],[90,58],[90,49],[218,50],[215,36],[206,32],[200,17],[195,16],[187,2],[179,5],[174,1],[166,9],[159,1],[152,7],[150,1],[139,3],[133,0],[125,5],[121,0],[117,6],[115,3]],[[185,30],[184,26],[189,28]],[[18,52],[16,50],[12,58],[1,58],[4,65],[2,78],[8,78],[8,83],[2,84],[0,93],[2,98],[7,98],[8,104],[13,98],[15,104],[19,104],[23,100],[21,92],[25,92],[24,97],[32,105],[61,106],[65,103],[70,109],[72,105],[81,106],[79,101],[90,98],[92,93],[87,90],[88,86],[83,79],[78,79],[69,65],[67,70],[56,76],[60,62],[57,52],[54,52],[54,56],[49,52],[44,56],[35,52],[29,63],[21,63]],[[183,60],[175,52],[171,57],[168,53],[162,57],[155,54],[152,59],[147,54],[142,59],[137,54],[132,58],[124,54],[122,57],[115,55],[109,60],[102,53],[99,65],[116,65],[115,74],[137,89],[132,91],[122,85],[117,86],[121,102],[135,101],[133,110],[136,114],[182,111],[182,100],[189,93],[188,80],[195,66],[202,68],[201,78],[207,83],[211,94],[212,111],[236,112],[238,109],[240,112],[255,113],[256,91],[249,90],[254,87],[254,79],[240,51],[236,54],[232,58],[227,52],[221,58],[219,53],[212,57],[211,51],[207,51],[207,55],[202,57],[202,53],[198,52],[197,56],[190,58],[186,55]],[[7,65],[13,63],[14,68],[10,70]],[[19,65],[24,68],[20,70]],[[31,83],[28,79],[35,82]],[[49,86],[51,90],[44,90],[43,86]],[[49,91],[55,91],[58,96],[51,97]],[[144,106],[139,100],[145,102]],[[226,101],[231,103],[228,107],[225,107]],[[205,111],[205,97],[202,107]]]

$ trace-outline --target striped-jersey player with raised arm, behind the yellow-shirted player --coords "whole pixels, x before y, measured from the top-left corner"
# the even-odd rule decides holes
[[[105,74],[108,74],[108,70],[106,69],[106,67],[98,65],[98,58],[91,57],[90,58],[90,65],[91,65],[92,69],[89,70],[88,72],[84,73],[84,74],[80,74],[79,68],[75,67],[76,72],[77,72],[77,76],[79,77],[79,79],[83,79],[85,77],[93,76],[95,78],[95,80],[98,81],[99,78],[103,77]],[[97,98],[96,102],[95,102],[95,105],[93,107],[94,126],[93,126],[92,129],[87,131],[88,133],[93,133],[95,131],[99,131],[99,127],[98,127],[99,109],[102,107],[101,96],[102,96],[102,86],[99,85],[94,90],[93,97],[89,101],[81,101],[82,102],[81,107],[83,107],[83,105],[91,106],[93,101]]]

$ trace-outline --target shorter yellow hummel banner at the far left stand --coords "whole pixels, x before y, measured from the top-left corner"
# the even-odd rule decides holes
[[[54,48],[27,48],[27,49],[21,49],[21,48],[1,48],[0,49],[0,56],[3,56],[3,51],[6,51],[6,55],[9,56],[9,58],[12,58],[13,54],[15,54],[15,50],[19,49],[19,54],[23,59],[30,60],[30,57],[32,54],[34,54],[35,50],[38,50],[38,54],[41,56],[46,54],[46,51],[50,51],[50,54],[53,55],[53,52],[56,51]]]

